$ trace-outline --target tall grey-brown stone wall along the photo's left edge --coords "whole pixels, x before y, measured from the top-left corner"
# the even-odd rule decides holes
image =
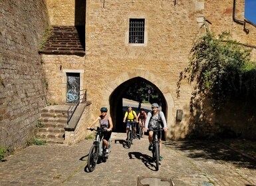
[[[38,50],[48,25],[45,1],[0,4],[0,146],[27,145],[46,105]]]

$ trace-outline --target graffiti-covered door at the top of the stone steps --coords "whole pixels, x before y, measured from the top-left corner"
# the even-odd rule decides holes
[[[78,73],[67,73],[66,102],[74,102],[79,99],[80,78]]]

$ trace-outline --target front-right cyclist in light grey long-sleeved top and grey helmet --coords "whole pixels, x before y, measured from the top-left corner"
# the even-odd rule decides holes
[[[146,118],[146,123],[145,123],[145,132],[148,132],[148,141],[150,141],[150,145],[148,147],[148,149],[150,151],[152,151],[153,148],[153,128],[162,128],[162,124],[164,125],[164,132],[167,132],[168,128],[167,128],[167,124],[166,124],[166,118],[164,116],[164,113],[162,111],[159,111],[158,108],[158,104],[154,103],[152,104],[152,112],[148,112],[148,116]],[[161,143],[161,131],[159,132],[160,137],[160,156],[159,156],[159,160],[162,161],[164,159],[164,157],[162,156],[162,143]]]

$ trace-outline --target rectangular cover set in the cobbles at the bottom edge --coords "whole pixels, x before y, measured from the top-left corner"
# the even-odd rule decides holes
[[[138,176],[137,186],[174,186],[172,179]]]

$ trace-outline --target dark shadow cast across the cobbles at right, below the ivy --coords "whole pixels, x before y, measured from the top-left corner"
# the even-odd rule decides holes
[[[237,167],[256,169],[256,160],[246,157],[237,151],[215,140],[165,141],[164,144],[172,149],[184,151],[187,157],[207,160],[214,159],[219,163],[233,163]]]

